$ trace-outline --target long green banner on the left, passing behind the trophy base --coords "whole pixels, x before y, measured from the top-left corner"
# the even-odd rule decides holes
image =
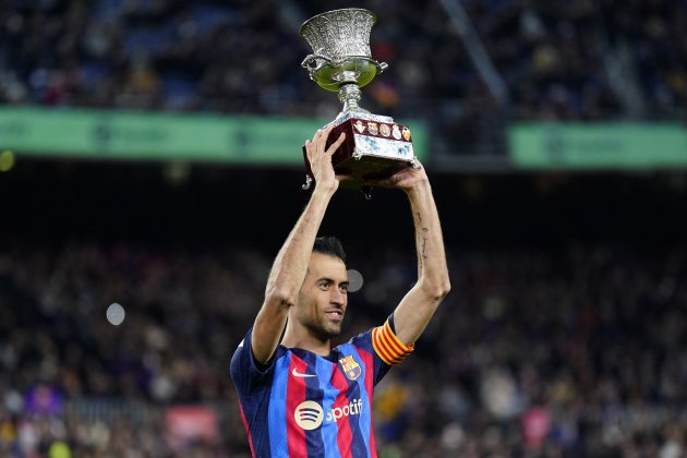
[[[316,119],[0,107],[0,152],[21,156],[302,164]],[[399,121],[400,122],[400,121]],[[410,121],[415,155],[426,130]]]

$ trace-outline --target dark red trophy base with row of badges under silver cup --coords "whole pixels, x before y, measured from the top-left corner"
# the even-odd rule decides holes
[[[410,129],[395,123],[393,118],[351,112],[337,117],[334,124],[325,147],[329,147],[341,132],[346,132],[346,140],[332,156],[336,174],[350,177],[341,181],[345,188],[359,189],[367,180],[384,179],[417,165]],[[306,172],[303,189],[309,189],[314,177],[305,146],[303,159]]]

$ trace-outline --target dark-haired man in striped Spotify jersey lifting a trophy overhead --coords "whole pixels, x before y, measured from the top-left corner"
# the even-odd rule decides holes
[[[279,251],[253,328],[231,360],[241,414],[256,457],[375,457],[372,393],[412,351],[448,293],[442,229],[420,168],[370,183],[406,191],[415,227],[418,282],[382,326],[334,349],[348,305],[345,254],[316,238],[339,180],[325,149],[332,126],[305,143],[315,189]],[[284,335],[284,337],[281,337]]]

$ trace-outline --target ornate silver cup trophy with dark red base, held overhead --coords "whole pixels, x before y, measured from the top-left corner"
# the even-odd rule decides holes
[[[343,104],[333,121],[327,146],[346,132],[346,141],[332,160],[337,173],[352,177],[346,183],[353,186],[388,177],[408,165],[419,166],[410,128],[395,123],[390,117],[372,114],[359,105],[360,88],[388,67],[371,56],[370,33],[375,22],[374,13],[349,8],[317,14],[300,29],[313,49],[301,65],[321,87],[338,92]],[[303,157],[308,173],[303,189],[309,189],[314,178],[304,147]]]

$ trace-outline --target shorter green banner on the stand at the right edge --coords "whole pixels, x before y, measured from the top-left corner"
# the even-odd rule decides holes
[[[523,123],[508,131],[513,164],[523,169],[687,167],[679,123]]]

